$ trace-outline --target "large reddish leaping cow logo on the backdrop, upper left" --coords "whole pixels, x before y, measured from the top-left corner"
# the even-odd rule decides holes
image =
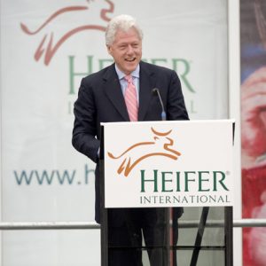
[[[23,22],[20,23],[21,30],[26,35],[36,36],[40,39],[35,50],[35,61],[39,61],[43,56],[44,65],[48,66],[61,45],[73,35],[86,30],[106,31],[106,24],[111,20],[109,15],[113,13],[114,4],[111,0],[104,0],[106,6],[100,8],[99,20],[95,23],[96,21],[91,21],[91,16],[95,13],[94,8],[97,6],[90,8],[91,1],[94,2],[94,0],[86,0],[87,3],[84,5],[69,5],[51,12],[51,15],[37,28],[31,28]],[[103,0],[96,2],[95,5],[99,5]],[[82,17],[84,20],[81,20]],[[90,22],[81,22],[86,20]],[[69,26],[67,31],[63,32],[59,29],[58,25],[67,25],[69,21],[73,26]]]

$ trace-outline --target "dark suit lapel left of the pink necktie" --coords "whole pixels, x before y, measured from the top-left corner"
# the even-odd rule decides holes
[[[129,121],[129,114],[123,94],[121,92],[121,85],[118,76],[115,72],[114,64],[110,66],[103,77],[105,82],[106,96],[111,100],[113,106],[121,114],[125,121]]]

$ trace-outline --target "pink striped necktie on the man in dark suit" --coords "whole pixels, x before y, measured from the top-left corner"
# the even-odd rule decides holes
[[[128,86],[125,91],[125,102],[128,108],[130,121],[137,121],[137,91],[131,75],[126,75]]]

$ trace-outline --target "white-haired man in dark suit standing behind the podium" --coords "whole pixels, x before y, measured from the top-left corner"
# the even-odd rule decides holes
[[[128,15],[115,17],[106,29],[106,47],[114,64],[82,79],[74,104],[73,145],[97,163],[96,221],[99,215],[100,122],[160,121],[160,96],[168,120],[188,120],[181,84],[175,71],[141,61],[143,33]],[[165,208],[110,209],[108,211],[109,266],[142,265],[144,235],[152,266],[165,264],[161,248],[166,235],[162,223]],[[177,215],[179,216],[179,215]],[[119,246],[127,247],[119,249]],[[130,248],[131,247],[131,248]]]

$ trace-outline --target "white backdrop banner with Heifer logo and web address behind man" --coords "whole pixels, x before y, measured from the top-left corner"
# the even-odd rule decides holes
[[[191,119],[227,118],[227,2],[1,0],[2,220],[93,221],[94,164],[71,145],[82,76],[109,65],[107,20],[176,70]],[[96,244],[95,244],[96,243]],[[99,265],[98,231],[4,232],[3,266]]]

